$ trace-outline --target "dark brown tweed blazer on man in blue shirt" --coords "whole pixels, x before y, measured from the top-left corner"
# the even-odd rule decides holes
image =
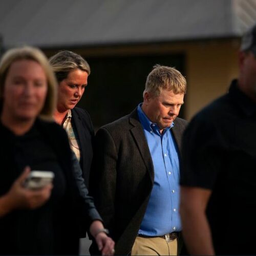
[[[179,150],[186,123],[177,118],[171,130]],[[95,139],[90,191],[117,255],[131,252],[153,183],[153,162],[137,109],[102,126]],[[94,245],[90,251],[97,254]]]

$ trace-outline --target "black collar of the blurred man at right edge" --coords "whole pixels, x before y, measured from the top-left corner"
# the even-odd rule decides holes
[[[238,80],[234,79],[231,82],[229,88],[229,95],[231,99],[235,101],[236,104],[240,106],[240,109],[247,115],[251,116],[256,114],[256,104],[247,95],[245,95],[238,87]]]

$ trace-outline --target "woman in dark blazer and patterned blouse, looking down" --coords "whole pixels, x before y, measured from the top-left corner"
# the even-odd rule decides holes
[[[67,131],[70,146],[88,187],[94,129],[89,113],[77,108],[76,104],[88,84],[90,66],[80,55],[71,51],[58,52],[49,61],[59,84],[54,119]]]

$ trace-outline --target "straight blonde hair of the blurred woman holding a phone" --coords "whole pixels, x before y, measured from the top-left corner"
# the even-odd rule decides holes
[[[45,104],[39,114],[41,118],[52,120],[56,108],[57,81],[44,53],[34,47],[19,47],[8,50],[0,60],[0,105],[3,105],[3,92],[6,76],[13,62],[17,60],[34,60],[40,64],[46,73],[48,90]]]

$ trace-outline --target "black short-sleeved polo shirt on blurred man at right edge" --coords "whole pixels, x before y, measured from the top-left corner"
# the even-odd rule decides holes
[[[182,158],[180,184],[212,190],[206,213],[216,253],[256,254],[256,103],[237,80],[191,120]]]

